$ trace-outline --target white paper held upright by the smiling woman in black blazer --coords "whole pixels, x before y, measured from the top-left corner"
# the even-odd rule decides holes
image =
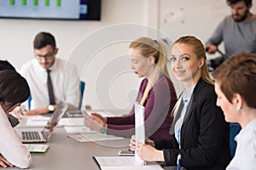
[[[144,126],[144,107],[135,103],[135,140],[145,144],[145,126]],[[146,161],[143,161],[135,150],[135,161],[139,165],[146,165]]]

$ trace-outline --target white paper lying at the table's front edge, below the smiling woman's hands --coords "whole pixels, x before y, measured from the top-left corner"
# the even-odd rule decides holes
[[[122,170],[158,170],[163,169],[160,167],[159,164],[156,162],[148,163],[148,165],[141,166],[137,164],[135,161],[135,157],[133,156],[94,156],[93,157],[98,164],[99,167],[101,167],[102,170],[115,170],[115,169],[122,169]]]

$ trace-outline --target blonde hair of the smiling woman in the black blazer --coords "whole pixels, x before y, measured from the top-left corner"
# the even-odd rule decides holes
[[[213,81],[209,75],[208,69],[207,69],[207,54],[204,48],[204,45],[202,42],[197,39],[196,37],[193,36],[184,36],[184,37],[179,37],[175,43],[183,43],[186,45],[189,45],[190,47],[193,48],[193,51],[197,57],[197,59],[205,59],[204,65],[201,67],[201,77],[203,77],[207,82],[210,84],[213,84]]]

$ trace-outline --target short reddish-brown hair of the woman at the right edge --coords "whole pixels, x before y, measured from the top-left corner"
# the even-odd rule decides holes
[[[212,72],[212,77],[230,103],[234,94],[240,94],[249,107],[256,108],[256,54],[232,56]]]

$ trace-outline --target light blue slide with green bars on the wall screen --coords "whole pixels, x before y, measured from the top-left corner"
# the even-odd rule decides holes
[[[87,13],[80,0],[2,0],[0,16],[7,18],[79,19]]]

